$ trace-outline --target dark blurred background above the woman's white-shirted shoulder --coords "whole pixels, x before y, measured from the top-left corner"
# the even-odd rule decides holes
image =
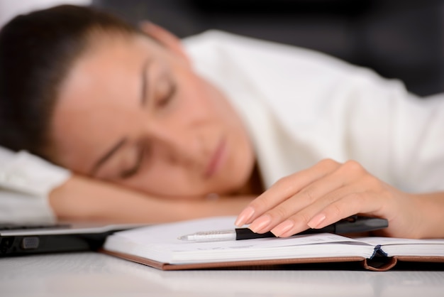
[[[444,0],[94,0],[131,23],[177,36],[215,28],[334,55],[399,78],[417,95],[444,92]]]

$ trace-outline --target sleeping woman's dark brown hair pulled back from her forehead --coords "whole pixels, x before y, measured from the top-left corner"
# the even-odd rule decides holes
[[[1,146],[48,158],[58,89],[96,32],[140,33],[116,16],[72,5],[17,16],[1,29]]]

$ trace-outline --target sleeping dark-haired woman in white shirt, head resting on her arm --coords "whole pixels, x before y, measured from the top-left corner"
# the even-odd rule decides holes
[[[0,84],[0,145],[72,172],[59,218],[238,215],[287,237],[360,213],[389,220],[379,235],[444,237],[443,95],[371,70],[56,6],[2,28]]]

